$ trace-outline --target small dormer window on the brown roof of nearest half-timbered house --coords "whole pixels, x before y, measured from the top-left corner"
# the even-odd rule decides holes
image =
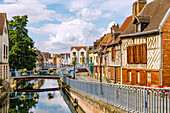
[[[136,24],[136,32],[142,32],[150,22],[150,17],[136,16],[133,24]]]

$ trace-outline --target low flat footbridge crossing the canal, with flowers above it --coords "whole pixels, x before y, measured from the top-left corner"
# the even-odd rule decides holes
[[[33,79],[60,79],[59,76],[42,76],[42,75],[37,75],[37,76],[18,76],[18,77],[11,77],[14,80],[33,80]]]

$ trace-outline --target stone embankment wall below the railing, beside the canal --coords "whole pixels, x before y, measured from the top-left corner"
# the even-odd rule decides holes
[[[116,108],[113,105],[95,99],[89,95],[81,93],[70,87],[64,87],[64,90],[66,94],[69,95],[70,98],[78,100],[78,105],[81,106],[83,111],[86,113],[126,113],[127,112],[119,108]]]

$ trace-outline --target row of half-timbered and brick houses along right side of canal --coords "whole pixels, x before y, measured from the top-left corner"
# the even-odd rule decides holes
[[[122,26],[89,48],[90,74],[100,78],[101,62],[102,77],[112,83],[170,86],[169,60],[169,0],[137,0]]]

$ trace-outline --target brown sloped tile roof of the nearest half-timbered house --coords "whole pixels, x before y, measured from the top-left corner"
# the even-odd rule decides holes
[[[142,31],[150,31],[158,29],[163,17],[170,7],[170,0],[154,0],[147,4],[137,16],[150,17],[149,25]],[[124,32],[124,34],[135,33],[135,24],[133,20]]]

